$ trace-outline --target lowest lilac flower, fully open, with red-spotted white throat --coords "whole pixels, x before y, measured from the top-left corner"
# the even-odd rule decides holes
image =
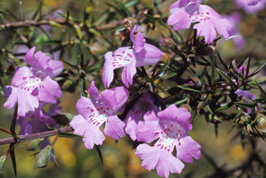
[[[143,159],[141,166],[148,170],[157,169],[160,177],[168,177],[170,172],[180,173],[184,168],[183,160],[193,162],[199,159],[201,146],[186,132],[192,129],[190,113],[184,108],[170,105],[158,113],[161,121],[145,121],[136,133],[139,141],[150,143],[159,139],[154,146],[141,144],[135,154]],[[172,155],[177,148],[177,157]]]

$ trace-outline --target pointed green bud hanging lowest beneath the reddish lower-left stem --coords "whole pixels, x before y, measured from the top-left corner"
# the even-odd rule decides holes
[[[51,159],[51,151],[52,151],[52,146],[51,145],[47,145],[46,148],[42,149],[39,154],[36,157],[35,160],[35,168],[45,168],[50,159]]]

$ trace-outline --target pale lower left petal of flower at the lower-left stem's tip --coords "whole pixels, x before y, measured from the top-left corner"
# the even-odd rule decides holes
[[[80,114],[73,117],[69,125],[75,130],[74,134],[85,136],[82,141],[85,142],[85,147],[87,149],[94,148],[94,144],[102,145],[105,140],[105,136],[103,135],[103,132],[100,131],[100,128],[88,123],[88,121]]]

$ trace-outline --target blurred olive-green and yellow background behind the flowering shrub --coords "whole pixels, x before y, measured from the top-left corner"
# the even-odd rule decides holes
[[[104,1],[104,0],[103,0]],[[108,7],[103,1],[95,1],[96,15],[103,12]],[[245,0],[242,0],[245,1]],[[16,21],[15,17],[20,19],[31,19],[35,10],[39,6],[39,0],[24,0],[21,1],[21,10],[19,7],[19,1],[15,0],[3,0],[0,3],[0,10],[5,12],[11,12],[9,15],[3,15],[6,22]],[[108,1],[113,3],[114,1]],[[121,0],[122,3],[127,1]],[[170,6],[174,1],[166,0],[161,3],[159,9],[164,12],[166,8]],[[88,1],[85,0],[44,0],[43,14],[46,14],[47,18],[62,18],[59,13],[66,14],[69,10],[71,17],[82,21],[83,11],[85,4]],[[214,8],[221,15],[231,15],[233,12],[238,12],[240,15],[240,21],[237,26],[238,31],[245,39],[245,44],[239,48],[229,39],[220,44],[217,44],[216,50],[219,51],[223,59],[227,62],[233,60],[242,60],[245,56],[252,53],[251,69],[255,69],[256,66],[263,63],[266,60],[266,12],[265,9],[256,12],[256,14],[249,15],[243,8],[236,6],[236,3],[232,0],[209,0],[204,1],[207,5]],[[134,13],[134,8],[129,8],[130,12]],[[23,17],[21,17],[21,14]],[[114,12],[115,15],[115,12]],[[258,18],[260,15],[262,18]],[[3,21],[1,21],[1,24]],[[51,35],[51,39],[63,40],[68,39],[75,33],[75,31],[60,30],[55,27],[44,26],[44,28]],[[144,26],[145,28],[145,26]],[[162,27],[163,28],[163,27]],[[20,29],[21,33],[27,33]],[[42,30],[34,28],[33,41],[37,45],[37,51],[47,51],[47,46],[40,44],[42,40],[45,40],[46,36],[42,33]],[[70,32],[69,32],[70,31]],[[168,30],[163,28],[159,31],[149,31],[145,34],[145,37],[154,39],[159,43],[161,38],[160,32],[168,35]],[[190,30],[181,30],[181,35],[188,35]],[[0,33],[0,48],[5,48],[8,43],[12,42],[11,32]],[[119,34],[117,34],[119,36]],[[118,37],[116,37],[118,40]],[[108,51],[107,46],[104,46],[101,42],[94,42],[89,44],[88,48],[95,54],[104,54]],[[85,60],[91,57],[87,55],[86,48],[82,48],[84,52]],[[58,57],[58,55],[54,55]],[[73,48],[67,48],[64,55],[60,55],[63,60],[69,60],[74,62],[75,51]],[[62,59],[61,58],[61,59]],[[228,63],[229,64],[229,63]],[[67,67],[67,66],[66,66]],[[260,73],[265,75],[265,69]],[[12,75],[10,75],[11,77]],[[4,87],[10,84],[11,78],[1,78]],[[259,94],[256,94],[259,96]],[[77,114],[76,101],[80,98],[78,91],[74,93],[64,92],[62,98],[60,98],[62,112],[69,112],[71,114]],[[6,102],[6,98],[0,96],[0,105]],[[0,107],[0,125],[1,127],[9,128],[12,118],[13,110]],[[236,108],[228,109],[228,112],[236,112]],[[193,130],[188,134],[202,145],[202,157],[199,160],[195,160],[193,163],[185,163],[185,168],[178,174],[170,174],[170,178],[173,177],[227,177],[222,175],[222,172],[236,170],[231,177],[255,177],[253,172],[258,174],[258,177],[265,177],[265,167],[258,166],[258,160],[251,161],[250,166],[245,168],[245,163],[249,162],[251,157],[258,155],[259,159],[265,163],[266,160],[266,143],[261,138],[251,138],[245,134],[245,149],[242,147],[241,132],[242,126],[236,127],[230,134],[227,134],[231,125],[229,122],[225,122],[219,125],[218,135],[215,136],[215,128],[212,124],[207,124],[204,117],[199,117],[193,125]],[[19,132],[19,127],[17,128]],[[8,134],[0,132],[0,139],[9,137]],[[53,141],[54,137],[50,138]],[[256,149],[253,148],[254,142],[256,142]],[[5,154],[8,150],[8,145],[1,145],[0,155]],[[132,141],[127,135],[120,141],[116,142],[114,139],[106,136],[103,145],[100,146],[100,150],[103,154],[103,164],[100,161],[96,149],[87,150],[82,143],[81,139],[64,139],[60,138],[54,147],[54,154],[57,158],[59,168],[53,161],[48,164],[46,168],[34,169],[35,157],[30,157],[33,152],[27,152],[26,150],[17,147],[15,149],[17,159],[17,177],[106,177],[106,178],[138,178],[138,177],[159,177],[156,170],[148,171],[141,167],[141,159],[137,157],[134,152],[135,149],[132,146]],[[242,175],[242,170],[246,169],[247,173]],[[220,171],[220,172],[219,172]],[[249,171],[251,173],[249,173]],[[215,175],[216,172],[216,175]],[[264,173],[263,173],[264,172]],[[15,177],[12,170],[12,163],[10,157],[8,157],[3,170],[0,172],[0,177]]]

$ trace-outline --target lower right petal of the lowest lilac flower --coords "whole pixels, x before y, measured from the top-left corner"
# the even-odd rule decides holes
[[[188,134],[182,136],[175,147],[177,148],[177,158],[186,163],[193,163],[193,157],[199,159],[201,156],[200,150],[202,147]]]

